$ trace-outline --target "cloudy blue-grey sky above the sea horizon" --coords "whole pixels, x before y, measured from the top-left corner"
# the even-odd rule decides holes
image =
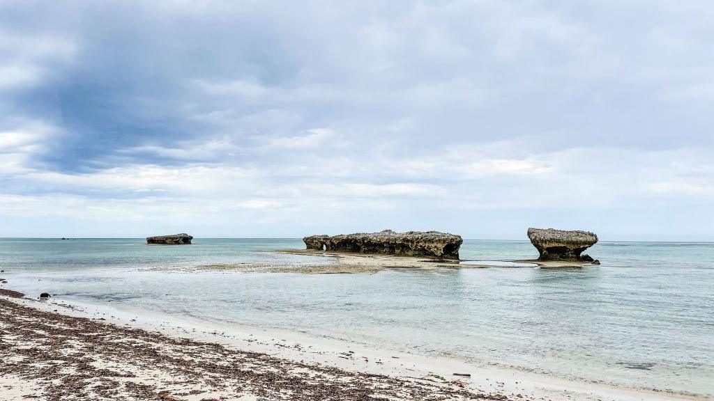
[[[0,236],[714,240],[711,1],[0,0]]]

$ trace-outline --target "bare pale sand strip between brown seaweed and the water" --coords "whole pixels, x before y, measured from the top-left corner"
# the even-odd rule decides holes
[[[495,367],[493,365],[473,364],[456,360],[456,358],[448,357],[426,357],[423,355],[414,355],[410,353],[393,352],[391,350],[379,350],[375,347],[365,345],[356,345],[349,342],[339,340],[331,340],[328,338],[314,338],[302,333],[291,333],[288,331],[278,332],[278,330],[258,330],[250,328],[236,328],[236,325],[220,324],[206,322],[193,318],[172,318],[167,315],[148,313],[141,310],[131,310],[129,308],[116,308],[115,305],[92,305],[89,303],[66,303],[66,301],[57,302],[50,300],[41,302],[29,298],[8,298],[0,295],[2,308],[8,308],[7,304],[14,303],[22,308],[31,308],[39,310],[41,313],[49,313],[51,318],[57,319],[95,319],[91,322],[107,325],[114,329],[124,330],[142,330],[147,335],[152,333],[160,333],[163,343],[171,342],[180,338],[188,338],[190,341],[212,344],[214,346],[226,347],[231,352],[254,352],[261,355],[269,355],[273,358],[278,358],[281,362],[276,362],[278,365],[291,363],[308,363],[315,365],[315,369],[339,371],[341,375],[378,375],[390,377],[390,380],[401,380],[398,384],[393,383],[397,387],[409,387],[417,385],[422,386],[423,383],[428,385],[437,385],[438,388],[433,391],[446,391],[441,387],[447,386],[448,391],[455,390],[454,393],[458,398],[448,399],[493,399],[493,400],[711,400],[707,397],[698,397],[693,395],[679,395],[663,391],[640,390],[628,387],[620,387],[615,385],[604,385],[595,382],[580,382],[576,380],[566,380],[559,377],[553,377],[533,372],[522,370],[508,369],[504,367]],[[57,311],[58,313],[54,312]],[[47,317],[46,317],[47,318]],[[106,319],[98,321],[96,319]],[[166,319],[166,320],[163,320]],[[0,318],[3,326],[6,322]],[[101,323],[99,323],[101,322]],[[104,326],[101,326],[104,328]],[[6,330],[6,329],[3,329]],[[86,333],[85,333],[86,334]],[[3,343],[6,341],[3,333]],[[0,347],[0,352],[3,350]],[[222,352],[222,351],[221,351]],[[174,350],[174,354],[176,351]],[[125,355],[131,359],[131,355]],[[213,355],[215,356],[215,355]],[[173,355],[171,357],[176,357]],[[211,355],[208,355],[211,357]],[[143,362],[139,362],[142,365]],[[246,363],[248,365],[254,363],[251,360]],[[274,361],[273,361],[274,362]],[[262,366],[262,365],[261,365]],[[129,363],[131,367],[131,363]],[[124,368],[129,368],[124,367]],[[261,368],[268,368],[262,366]],[[301,367],[305,369],[306,367]],[[311,369],[312,367],[308,367]],[[454,376],[455,372],[468,372],[471,377]],[[166,372],[155,372],[161,377]],[[8,385],[8,379],[5,377],[0,380],[0,388]],[[352,377],[352,376],[350,376]],[[361,377],[361,376],[360,376]],[[370,377],[370,376],[367,376]],[[332,379],[332,378],[331,378]],[[364,377],[362,377],[364,379]],[[33,380],[21,380],[14,377],[13,388],[27,390],[33,385]],[[11,381],[12,381],[11,380]],[[168,380],[166,377],[161,380]],[[457,382],[458,380],[458,382]],[[171,380],[168,380],[171,381]],[[175,380],[174,380],[175,381]],[[416,384],[415,384],[416,383]],[[200,384],[200,383],[199,383]],[[11,384],[12,385],[12,384]],[[36,383],[35,383],[36,385]],[[303,385],[309,387],[310,383],[305,382]],[[463,387],[461,387],[463,385]],[[183,394],[186,391],[205,390],[206,387],[191,388],[187,390],[176,390],[177,394]],[[196,386],[194,386],[196,387]],[[177,387],[178,388],[178,387]],[[420,387],[421,388],[421,387]],[[441,389],[441,390],[440,390]],[[471,395],[461,393],[470,391]],[[158,394],[158,393],[157,393]],[[155,398],[166,400],[201,400],[206,397],[206,393],[201,393],[201,397],[192,397],[193,395],[178,395],[178,398]],[[459,395],[460,394],[460,395]],[[228,397],[226,400],[253,400],[251,396],[244,395],[238,397],[236,394],[216,392],[216,397],[223,395]],[[518,397],[520,395],[520,397]],[[262,395],[259,395],[262,396]],[[18,395],[19,397],[19,395]],[[158,395],[157,395],[158,397]],[[405,398],[415,400],[428,400],[426,395],[421,395],[422,398]],[[471,397],[471,398],[468,398]],[[479,398],[480,397],[480,398]],[[486,397],[486,398],[484,398]],[[488,398],[491,397],[491,398]],[[496,397],[496,398],[494,398]],[[498,398],[501,397],[501,398]],[[20,398],[11,398],[11,400]],[[275,398],[280,399],[280,398]],[[300,400],[301,398],[292,398]],[[358,398],[343,398],[352,400]],[[401,398],[396,398],[401,399]],[[271,400],[271,398],[268,398]]]

